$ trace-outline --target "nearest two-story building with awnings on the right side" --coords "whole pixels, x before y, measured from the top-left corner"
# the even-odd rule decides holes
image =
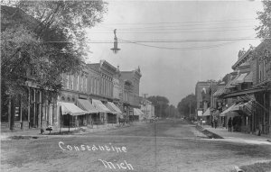
[[[232,117],[235,131],[270,133],[270,42],[263,41],[238,57],[222,97],[221,115]]]

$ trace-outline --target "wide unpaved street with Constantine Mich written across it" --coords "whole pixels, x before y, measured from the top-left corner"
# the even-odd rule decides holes
[[[217,172],[271,159],[267,144],[199,136],[191,124],[166,120],[88,135],[2,140],[1,171]]]

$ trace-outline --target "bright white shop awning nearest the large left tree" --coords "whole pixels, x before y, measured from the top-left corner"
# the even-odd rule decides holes
[[[61,113],[62,114],[70,114],[72,116],[77,116],[77,115],[86,114],[88,112],[80,109],[75,104],[61,102]]]

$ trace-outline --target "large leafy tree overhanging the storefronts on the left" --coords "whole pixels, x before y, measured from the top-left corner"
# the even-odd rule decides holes
[[[6,6],[9,5],[9,6]],[[26,74],[48,93],[60,93],[61,74],[84,61],[84,29],[100,23],[102,1],[15,1],[1,6],[3,95],[24,94]]]

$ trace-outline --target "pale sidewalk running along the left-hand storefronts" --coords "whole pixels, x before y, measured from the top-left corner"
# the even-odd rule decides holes
[[[51,131],[51,134],[49,134],[49,131],[45,131],[43,134],[41,134],[41,129],[40,128],[33,128],[33,129],[27,129],[27,130],[20,130],[16,129],[14,131],[10,131],[9,129],[1,129],[1,140],[8,140],[11,137],[34,137],[36,138],[42,138],[42,137],[50,137],[50,136],[62,136],[62,135],[82,135],[82,134],[87,134],[87,133],[96,133],[96,132],[102,132],[102,131],[108,131],[108,130],[115,130],[115,129],[121,129],[121,128],[126,128],[130,127],[133,125],[139,125],[139,124],[144,124],[145,122],[133,122],[133,123],[126,123],[124,126],[119,126],[119,124],[103,124],[103,125],[93,125],[93,128],[89,127],[79,127],[79,128],[61,128],[61,134],[60,134],[60,128],[58,129],[53,129]]]

